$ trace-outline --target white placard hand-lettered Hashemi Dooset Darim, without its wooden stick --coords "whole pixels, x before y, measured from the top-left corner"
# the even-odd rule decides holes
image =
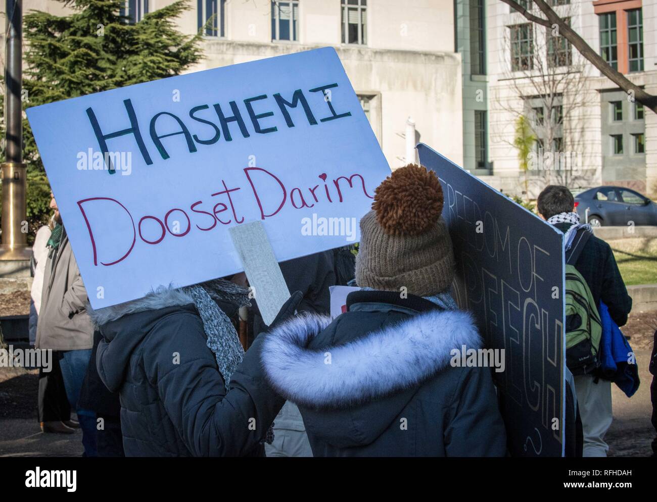
[[[279,262],[358,241],[390,173],[332,48],[27,114],[94,308],[242,271],[244,222]]]

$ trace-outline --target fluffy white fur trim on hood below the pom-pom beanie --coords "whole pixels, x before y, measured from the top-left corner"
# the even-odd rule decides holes
[[[461,310],[430,310],[345,345],[307,349],[328,324],[325,316],[298,316],[265,335],[265,375],[287,400],[350,406],[419,385],[449,366],[454,348],[482,346],[472,316]]]

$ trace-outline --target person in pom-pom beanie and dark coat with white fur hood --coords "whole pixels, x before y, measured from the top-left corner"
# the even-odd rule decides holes
[[[313,455],[488,457],[506,453],[489,367],[455,364],[482,348],[449,293],[455,262],[438,177],[410,164],[360,222],[360,291],[331,320],[304,315],[263,341],[271,387],[301,411]]]

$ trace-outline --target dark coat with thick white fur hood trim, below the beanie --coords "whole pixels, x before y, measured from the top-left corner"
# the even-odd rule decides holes
[[[505,455],[491,369],[450,366],[452,349],[482,346],[469,314],[387,291],[351,293],[347,309],[295,318],[261,352],[315,457]]]

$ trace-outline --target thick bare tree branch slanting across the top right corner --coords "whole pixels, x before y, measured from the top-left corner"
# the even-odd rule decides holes
[[[586,41],[576,33],[575,30],[568,26],[568,23],[560,18],[558,14],[545,2],[545,0],[533,0],[536,6],[543,12],[547,19],[540,18],[527,12],[522,6],[516,3],[513,0],[501,0],[504,3],[507,3],[513,9],[517,10],[522,14],[527,20],[530,20],[541,26],[552,27],[556,24],[558,26],[559,34],[562,35],[566,40],[568,40],[579,53],[587,59],[595,68],[600,70],[600,73],[610,79],[613,83],[618,85],[625,93],[633,94],[635,100],[643,104],[646,108],[650,108],[652,112],[657,114],[657,96],[646,93],[641,87],[635,85],[623,73],[614,70],[602,56],[591,49],[591,46],[586,43]]]

